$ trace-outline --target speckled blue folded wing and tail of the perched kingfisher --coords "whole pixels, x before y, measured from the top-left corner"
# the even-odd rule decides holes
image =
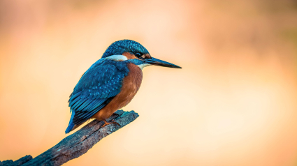
[[[99,59],[76,84],[69,99],[71,119],[65,133],[90,119],[119,93],[122,80],[128,75],[126,63]]]

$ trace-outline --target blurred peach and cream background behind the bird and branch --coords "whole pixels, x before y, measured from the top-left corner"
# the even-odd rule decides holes
[[[297,1],[0,1],[0,160],[66,137],[68,96],[115,40],[140,117],[65,165],[297,165]]]

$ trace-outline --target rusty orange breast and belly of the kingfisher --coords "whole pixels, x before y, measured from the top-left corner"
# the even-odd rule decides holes
[[[141,81],[143,80],[143,72],[133,63],[128,63],[128,68],[129,74],[124,77],[121,92],[119,92],[106,107],[103,107],[102,110],[97,112],[93,118],[99,121],[108,119],[114,112],[128,105],[136,95],[140,88]]]

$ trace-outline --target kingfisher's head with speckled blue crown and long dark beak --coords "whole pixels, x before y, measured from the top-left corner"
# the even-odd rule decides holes
[[[131,61],[131,63],[138,65],[141,69],[150,65],[181,68],[173,63],[153,58],[143,45],[133,40],[116,41],[108,47],[102,58],[113,61]]]

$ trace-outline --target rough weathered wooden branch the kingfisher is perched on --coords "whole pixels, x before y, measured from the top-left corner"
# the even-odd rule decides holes
[[[69,135],[53,146],[48,151],[45,151],[36,158],[31,159],[31,156],[25,156],[13,162],[12,160],[6,160],[0,162],[1,165],[62,165],[68,160],[73,158],[78,158],[82,154],[86,153],[89,149],[99,142],[103,137],[110,135],[111,133],[119,130],[129,124],[131,121],[134,121],[139,115],[136,112],[124,112],[123,110],[118,110],[115,112],[120,115],[117,117],[113,115],[108,119],[115,119],[121,126],[118,126],[115,123],[112,123],[108,126],[100,128],[103,125],[103,121],[94,120],[88,123],[86,126],[78,130],[77,132]],[[21,160],[22,159],[22,160]]]

